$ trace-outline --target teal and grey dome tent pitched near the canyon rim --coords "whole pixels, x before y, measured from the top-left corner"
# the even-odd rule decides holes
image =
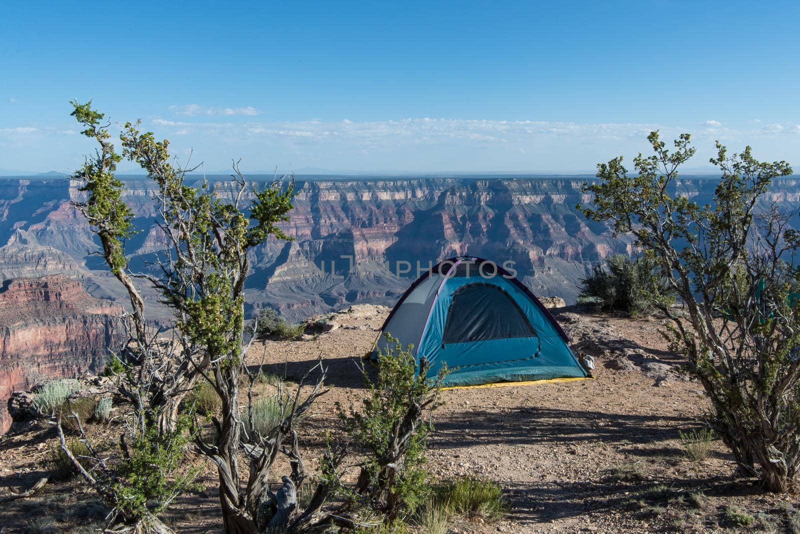
[[[586,378],[570,339],[533,293],[506,269],[478,257],[454,257],[422,275],[383,324],[372,353],[386,349],[383,333],[414,357],[442,364],[446,386]]]

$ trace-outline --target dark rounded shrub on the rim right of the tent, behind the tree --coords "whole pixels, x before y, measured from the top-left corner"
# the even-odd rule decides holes
[[[614,254],[606,265],[594,265],[581,280],[580,298],[596,302],[604,311],[624,312],[631,317],[652,312],[654,301],[674,302],[655,261],[624,254]]]

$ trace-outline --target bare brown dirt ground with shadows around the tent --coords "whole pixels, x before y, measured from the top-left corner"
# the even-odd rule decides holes
[[[334,403],[362,393],[359,357],[386,313],[355,306],[316,339],[251,349],[250,365],[263,358],[267,372],[294,382],[318,357],[328,367],[330,391],[306,424],[309,458],[322,430],[337,424]],[[571,309],[558,318],[577,349],[596,358],[594,379],[442,392],[430,471],[496,480],[510,508],[491,523],[458,520],[451,532],[800,532],[797,497],[770,495],[754,480],[734,478],[722,442],[714,441],[706,460],[684,454],[678,432],[702,428],[708,404],[702,387],[682,376],[681,357],[666,351],[661,321]],[[45,473],[54,442],[43,421],[17,424],[0,438],[0,499]],[[214,470],[207,467],[201,481],[205,491],[183,496],[170,512],[177,532],[222,532]],[[736,511],[751,524],[744,526],[750,520]],[[0,504],[0,533],[94,532],[103,513],[78,480],[48,484],[37,496]]]

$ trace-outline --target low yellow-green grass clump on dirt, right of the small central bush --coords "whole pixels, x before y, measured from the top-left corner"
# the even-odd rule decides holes
[[[507,510],[500,484],[477,476],[446,481],[436,488],[435,496],[447,508],[466,517],[498,519]]]

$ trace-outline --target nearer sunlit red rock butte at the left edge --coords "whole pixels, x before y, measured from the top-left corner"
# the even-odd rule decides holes
[[[0,432],[10,425],[6,401],[35,383],[102,369],[121,345],[122,306],[91,297],[56,274],[18,278],[0,287]]]

